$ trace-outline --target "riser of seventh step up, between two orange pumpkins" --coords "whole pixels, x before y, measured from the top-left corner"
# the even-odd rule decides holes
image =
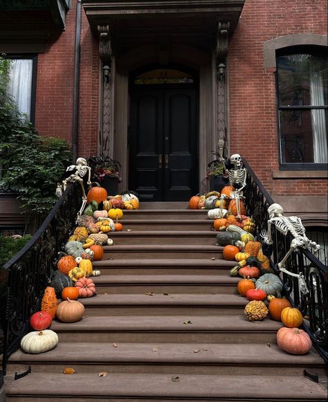
[[[215,259],[221,259],[222,252],[221,250],[213,250],[213,251],[183,251],[183,250],[163,250],[163,251],[147,251],[147,250],[133,250],[129,251],[122,250],[116,251],[112,250],[104,253],[104,259],[211,259],[214,257]],[[237,264],[237,263],[236,263]]]

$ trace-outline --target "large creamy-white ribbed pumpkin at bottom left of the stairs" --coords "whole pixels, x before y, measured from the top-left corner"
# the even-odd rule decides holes
[[[51,329],[32,331],[21,339],[21,349],[26,353],[38,354],[57,346],[58,336]]]

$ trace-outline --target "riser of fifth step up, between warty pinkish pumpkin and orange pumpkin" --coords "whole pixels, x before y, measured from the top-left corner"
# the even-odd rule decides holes
[[[100,285],[96,284],[97,293],[103,294],[108,293],[112,295],[116,294],[144,294],[147,292],[154,292],[158,293],[178,293],[178,294],[190,294],[190,293],[197,293],[197,294],[207,294],[207,293],[220,293],[220,294],[235,294],[237,295],[236,287],[237,284],[234,285],[190,285],[190,284],[167,284],[167,285],[157,285],[157,284],[147,284],[147,285]]]

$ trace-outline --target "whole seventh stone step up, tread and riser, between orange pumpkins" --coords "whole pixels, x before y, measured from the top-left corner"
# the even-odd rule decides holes
[[[206,259],[221,257],[223,247],[213,245],[151,244],[113,245],[104,247],[103,261],[106,259]]]

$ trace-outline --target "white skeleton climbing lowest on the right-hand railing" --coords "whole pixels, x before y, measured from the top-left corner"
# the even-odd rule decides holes
[[[271,245],[273,244],[271,237],[271,225],[275,225],[277,230],[279,230],[283,235],[286,235],[288,232],[294,237],[291,241],[291,248],[288,253],[284,256],[281,262],[278,263],[278,268],[280,271],[287,273],[288,275],[298,277],[298,281],[300,284],[300,290],[302,293],[308,293],[307,284],[304,280],[304,275],[302,273],[295,274],[286,270],[285,263],[286,259],[288,259],[289,255],[299,247],[313,250],[313,253],[316,253],[320,250],[320,245],[316,244],[315,241],[312,241],[307,238],[305,235],[305,228],[302,225],[302,220],[299,217],[285,217],[284,209],[280,204],[274,203],[268,207],[268,231],[263,230],[261,233],[261,237],[264,240],[264,243]]]

